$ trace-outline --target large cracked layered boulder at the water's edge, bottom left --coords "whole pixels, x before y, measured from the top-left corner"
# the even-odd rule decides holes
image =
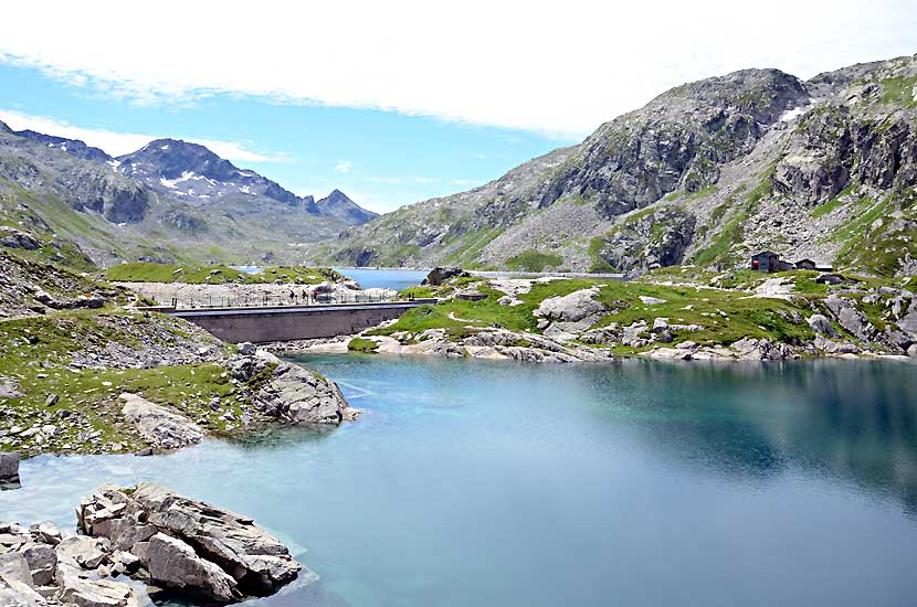
[[[77,521],[110,541],[118,562],[133,563],[118,551],[136,557],[140,577],[218,603],[274,594],[302,569],[252,519],[148,482],[101,488],[80,503]]]

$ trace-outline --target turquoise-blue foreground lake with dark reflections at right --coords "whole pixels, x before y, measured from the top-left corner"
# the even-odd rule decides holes
[[[271,607],[917,603],[913,364],[308,361],[359,422],[36,458],[0,519],[157,480],[294,545]]]

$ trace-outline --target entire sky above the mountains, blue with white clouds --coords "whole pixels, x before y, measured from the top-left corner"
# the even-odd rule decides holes
[[[685,82],[917,52],[914,0],[30,0],[3,22],[13,128],[115,155],[194,140],[381,212],[495,179]]]

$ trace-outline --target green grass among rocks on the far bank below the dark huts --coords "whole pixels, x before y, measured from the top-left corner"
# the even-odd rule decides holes
[[[684,268],[687,270],[688,268]],[[499,327],[514,331],[539,333],[537,318],[533,311],[549,297],[568,295],[579,289],[599,287],[597,299],[610,312],[599,320],[594,328],[616,323],[621,327],[644,320],[652,327],[656,318],[667,318],[673,324],[699,324],[700,331],[675,331],[674,342],[694,341],[706,345],[728,345],[742,338],[763,338],[774,342],[812,341],[814,333],[809,326],[795,322],[793,317],[808,317],[815,309],[823,309],[821,301],[831,292],[831,288],[814,281],[818,273],[788,271],[768,275],[767,278],[784,277],[795,285],[792,301],[778,298],[752,297],[753,287],[765,278],[759,273],[738,271],[728,276],[691,268],[685,273],[681,267],[664,268],[651,274],[644,280],[619,283],[598,279],[554,280],[535,284],[528,294],[518,296],[524,303],[507,307],[497,303],[503,292],[486,285],[477,289],[487,295],[479,301],[450,299],[436,306],[415,308],[399,319],[398,322],[371,331],[371,334],[392,334],[404,331],[420,333],[425,329],[445,329],[454,339],[471,334],[477,330]],[[672,284],[675,281],[693,285]],[[883,281],[863,277],[865,286],[878,286]],[[670,284],[660,284],[670,283]],[[707,285],[707,286],[704,286]],[[716,285],[716,286],[714,286]],[[424,295],[443,296],[449,287],[430,289]],[[647,305],[641,297],[664,299],[664,303]],[[858,295],[846,295],[862,299]],[[861,309],[873,323],[882,329],[882,315],[885,307],[876,305]],[[458,320],[456,320],[456,318]],[[849,341],[856,341],[840,326],[835,329]],[[632,348],[615,348],[615,352],[632,354]]]

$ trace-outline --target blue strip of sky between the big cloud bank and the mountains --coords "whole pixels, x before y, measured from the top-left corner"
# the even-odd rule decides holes
[[[137,104],[10,64],[0,64],[0,120],[17,130],[93,139],[113,155],[139,147],[135,141],[145,138],[134,134],[221,141],[231,146],[210,147],[297,194],[322,198],[337,188],[377,212],[467,190],[575,142],[396,111],[230,94]]]

